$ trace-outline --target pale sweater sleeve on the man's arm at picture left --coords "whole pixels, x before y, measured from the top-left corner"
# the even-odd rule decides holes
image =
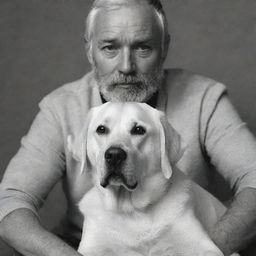
[[[63,138],[53,104],[46,97],[39,106],[40,111],[0,184],[0,220],[18,208],[30,209],[37,215],[63,174]]]

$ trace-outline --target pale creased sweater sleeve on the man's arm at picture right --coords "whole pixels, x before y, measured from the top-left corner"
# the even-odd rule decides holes
[[[256,188],[256,140],[223,85],[207,90],[201,111],[202,145],[211,163],[234,193]]]

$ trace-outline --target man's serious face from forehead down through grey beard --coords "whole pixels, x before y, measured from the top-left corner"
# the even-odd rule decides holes
[[[100,10],[91,43],[89,56],[106,100],[146,101],[161,85],[162,30],[152,7]]]

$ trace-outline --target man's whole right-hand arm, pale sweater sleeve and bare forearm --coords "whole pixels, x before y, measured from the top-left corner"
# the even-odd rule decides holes
[[[256,239],[256,140],[219,84],[205,94],[201,145],[210,163],[229,183],[233,202],[212,230],[212,238],[229,255]],[[221,189],[221,188],[220,188]]]

